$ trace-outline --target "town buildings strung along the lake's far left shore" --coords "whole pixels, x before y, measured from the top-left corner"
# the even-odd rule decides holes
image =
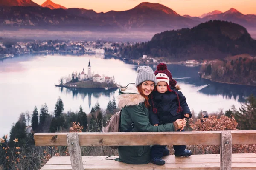
[[[72,54],[117,54],[120,47],[132,45],[131,42],[105,41],[61,41],[44,40],[33,42],[4,42],[0,40],[0,57],[13,57],[28,52],[72,53]]]

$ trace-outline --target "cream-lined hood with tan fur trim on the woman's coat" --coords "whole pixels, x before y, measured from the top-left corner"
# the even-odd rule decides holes
[[[135,83],[130,83],[124,88],[120,88],[118,107],[123,108],[125,106],[139,105],[145,101],[145,98],[140,95]]]

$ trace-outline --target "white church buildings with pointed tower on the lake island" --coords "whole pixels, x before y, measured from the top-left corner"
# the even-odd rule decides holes
[[[81,72],[81,74],[79,74],[78,76],[78,81],[81,82],[81,81],[86,81],[86,80],[90,80],[92,79],[93,82],[107,82],[107,83],[115,83],[114,81],[114,77],[108,77],[108,76],[100,76],[99,74],[95,74],[93,75],[92,72],[91,72],[91,65],[90,65],[90,60],[89,60],[89,65],[88,65],[88,72],[87,74],[84,72],[84,68],[83,68],[83,71]]]

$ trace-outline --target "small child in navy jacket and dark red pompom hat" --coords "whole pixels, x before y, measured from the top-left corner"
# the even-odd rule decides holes
[[[149,111],[151,124],[158,126],[174,122],[177,119],[191,118],[191,112],[186,97],[178,91],[175,86],[177,82],[172,79],[171,72],[167,69],[166,64],[160,63],[157,65],[157,70],[154,72],[157,78],[157,86],[152,92],[151,109]],[[183,131],[179,129],[178,131]],[[173,146],[175,156],[190,156],[191,150],[186,150],[186,146]],[[163,156],[169,155],[169,150],[166,146],[155,145],[151,148],[151,163],[157,165],[165,164],[161,159]]]

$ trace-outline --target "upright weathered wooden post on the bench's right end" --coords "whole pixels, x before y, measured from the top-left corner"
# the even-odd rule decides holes
[[[221,132],[220,170],[231,170],[232,135],[231,132]]]

